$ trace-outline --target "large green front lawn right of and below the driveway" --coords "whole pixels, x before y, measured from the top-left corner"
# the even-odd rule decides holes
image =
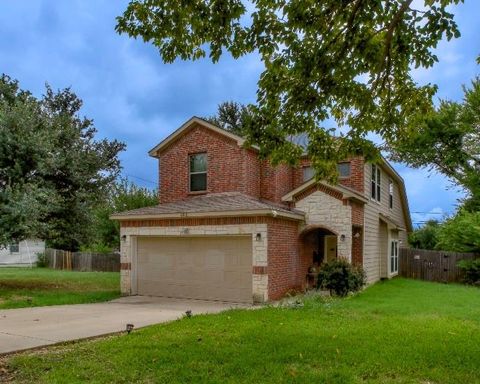
[[[396,279],[344,300],[193,316],[3,363],[24,383],[480,383],[480,289]]]

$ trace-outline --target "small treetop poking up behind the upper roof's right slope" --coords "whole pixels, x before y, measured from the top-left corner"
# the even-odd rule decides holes
[[[247,134],[245,121],[248,116],[248,108],[245,105],[235,101],[225,101],[218,105],[215,115],[206,117],[205,120],[226,131],[245,136]]]

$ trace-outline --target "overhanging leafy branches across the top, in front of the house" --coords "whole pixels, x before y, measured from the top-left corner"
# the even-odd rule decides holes
[[[247,144],[273,163],[295,163],[305,136],[319,178],[334,179],[339,160],[378,150],[432,110],[434,85],[412,69],[428,68],[446,37],[459,36],[448,11],[461,0],[132,0],[116,30],[153,43],[162,59],[198,60],[258,54],[264,71],[246,121]],[[332,118],[348,127],[336,140]]]

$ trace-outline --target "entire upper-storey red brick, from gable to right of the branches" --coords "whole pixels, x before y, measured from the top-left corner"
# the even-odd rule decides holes
[[[267,160],[260,160],[256,151],[241,148],[235,140],[196,124],[160,154],[160,203],[191,195],[189,155],[202,152],[208,157],[206,193],[235,191],[276,203],[282,203],[282,196],[303,184],[303,167],[311,163],[303,157],[298,167],[273,167]],[[363,158],[351,159],[351,176],[340,179],[340,183],[363,192],[363,165]]]

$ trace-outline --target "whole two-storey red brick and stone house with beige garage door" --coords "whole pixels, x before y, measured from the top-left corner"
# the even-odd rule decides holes
[[[403,180],[385,160],[342,162],[333,186],[312,178],[308,158],[272,167],[243,144],[194,117],[149,152],[160,204],[112,216],[124,294],[264,302],[336,257],[362,264],[369,282],[397,274],[412,227]]]

